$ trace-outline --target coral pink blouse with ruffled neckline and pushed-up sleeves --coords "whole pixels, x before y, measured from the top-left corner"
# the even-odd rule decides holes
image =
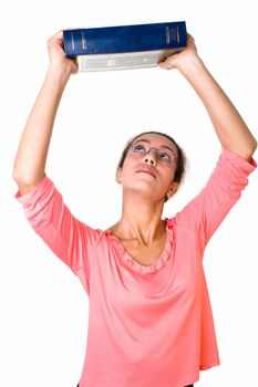
[[[109,230],[76,220],[48,177],[17,194],[32,228],[90,299],[80,387],[182,387],[219,364],[203,254],[256,167],[224,149],[206,187],[166,218],[164,250],[149,266]]]

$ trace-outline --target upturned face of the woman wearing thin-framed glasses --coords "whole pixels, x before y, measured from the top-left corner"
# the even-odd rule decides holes
[[[146,195],[155,201],[164,199],[166,194],[171,198],[178,188],[178,182],[174,181],[176,159],[173,158],[177,157],[175,144],[157,134],[142,135],[133,144],[134,151],[128,149],[123,168],[117,168],[116,180],[125,192]],[[148,147],[152,149],[144,153]]]

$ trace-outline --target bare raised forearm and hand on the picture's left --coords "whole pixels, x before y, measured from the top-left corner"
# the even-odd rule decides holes
[[[75,60],[64,55],[62,31],[49,39],[48,49],[50,65],[22,133],[13,166],[13,179],[21,195],[38,186],[45,176],[45,161],[59,103],[70,75],[78,72]]]

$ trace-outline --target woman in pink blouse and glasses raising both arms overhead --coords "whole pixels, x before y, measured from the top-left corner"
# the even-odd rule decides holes
[[[184,153],[165,134],[140,134],[116,171],[121,219],[106,231],[92,229],[71,215],[45,175],[55,113],[78,71],[64,56],[62,31],[49,40],[49,54],[13,178],[31,226],[80,278],[90,299],[80,387],[193,386],[200,369],[219,364],[203,253],[256,168],[257,142],[188,35],[187,48],[158,66],[177,69],[203,101],[221,144],[216,168],[199,195],[163,220],[164,202],[184,175]]]

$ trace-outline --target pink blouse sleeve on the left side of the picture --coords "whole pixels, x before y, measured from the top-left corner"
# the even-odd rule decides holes
[[[89,281],[89,255],[100,232],[74,218],[54,184],[45,176],[32,191],[16,198],[22,203],[33,230],[75,274],[85,272]]]

